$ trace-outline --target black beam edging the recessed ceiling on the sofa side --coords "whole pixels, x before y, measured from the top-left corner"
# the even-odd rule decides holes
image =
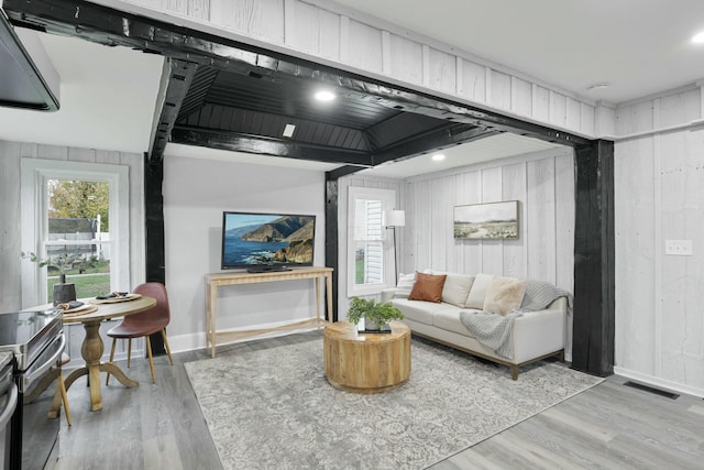
[[[391,161],[404,161],[406,159],[413,159],[421,153],[431,152],[433,150],[440,150],[448,146],[459,145],[484,139],[491,135],[501,134],[501,131],[495,129],[460,127],[460,129],[441,129],[433,132],[428,132],[416,139],[407,139],[397,145],[387,147],[383,152],[372,155],[374,165]]]

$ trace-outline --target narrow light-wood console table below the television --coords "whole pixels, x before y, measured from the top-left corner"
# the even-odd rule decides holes
[[[295,321],[273,328],[249,329],[239,331],[218,331],[216,318],[218,310],[218,287],[222,285],[255,284],[276,281],[316,280],[316,317]],[[213,273],[206,275],[206,348],[216,357],[216,346],[232,342],[237,339],[264,335],[271,331],[300,329],[307,326],[323,327],[327,325],[321,313],[322,280],[326,280],[328,297],[328,315],[332,318],[332,267],[301,267],[293,271],[272,271],[264,273]]]

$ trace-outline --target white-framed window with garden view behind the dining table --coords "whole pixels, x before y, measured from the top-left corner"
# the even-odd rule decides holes
[[[22,265],[22,303],[51,302],[63,271],[77,297],[129,289],[127,166],[22,160],[22,248],[42,260]]]

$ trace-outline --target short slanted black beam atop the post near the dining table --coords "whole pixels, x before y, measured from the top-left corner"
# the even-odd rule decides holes
[[[161,107],[158,120],[155,122],[155,129],[152,129],[152,151],[150,160],[162,160],[164,150],[169,141],[172,130],[176,123],[176,119],[180,112],[184,99],[188,94],[188,88],[194,79],[194,75],[198,69],[198,64],[193,62],[184,62],[172,59],[167,64],[168,74],[165,74],[162,87],[165,87],[164,99],[157,107]],[[160,94],[160,96],[162,96]]]

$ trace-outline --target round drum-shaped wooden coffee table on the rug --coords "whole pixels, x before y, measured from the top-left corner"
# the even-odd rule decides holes
[[[326,327],[323,361],[328,382],[354,393],[381,393],[410,375],[410,329],[392,321],[389,334],[359,334],[349,321]]]

